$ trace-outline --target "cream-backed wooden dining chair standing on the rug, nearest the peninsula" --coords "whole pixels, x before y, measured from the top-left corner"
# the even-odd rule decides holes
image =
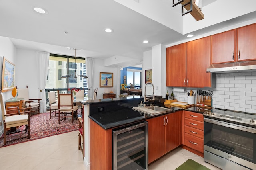
[[[58,90],[58,107],[59,107],[59,124],[60,121],[66,120],[67,117],[72,119],[72,123],[74,123],[74,113],[77,113],[77,106],[73,104],[73,92],[62,94]],[[68,116],[68,114],[71,114]]]

